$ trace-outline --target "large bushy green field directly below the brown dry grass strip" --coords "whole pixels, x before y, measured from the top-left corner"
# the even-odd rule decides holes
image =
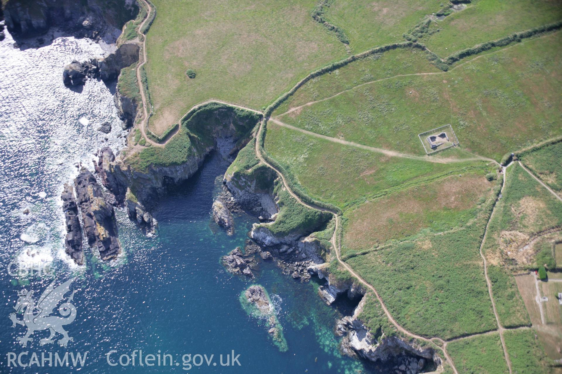
[[[478,255],[480,223],[346,260],[377,289],[398,324],[427,337],[497,328]]]

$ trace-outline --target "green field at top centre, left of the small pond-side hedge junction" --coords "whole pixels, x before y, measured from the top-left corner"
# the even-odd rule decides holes
[[[425,15],[438,11],[438,0],[336,0],[325,19],[343,30],[353,52],[402,41],[402,34]]]

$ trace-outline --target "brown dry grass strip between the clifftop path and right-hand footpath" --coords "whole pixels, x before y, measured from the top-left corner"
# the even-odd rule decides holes
[[[346,214],[343,246],[361,250],[409,237],[423,228],[440,232],[458,227],[475,218],[477,202],[490,195],[491,187],[482,173],[470,173],[366,202]]]

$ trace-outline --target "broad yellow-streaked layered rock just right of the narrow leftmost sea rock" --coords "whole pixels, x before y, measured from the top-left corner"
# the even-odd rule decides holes
[[[89,246],[99,251],[102,260],[117,257],[121,244],[117,238],[115,212],[103,197],[96,178],[88,169],[81,168],[74,186]]]

